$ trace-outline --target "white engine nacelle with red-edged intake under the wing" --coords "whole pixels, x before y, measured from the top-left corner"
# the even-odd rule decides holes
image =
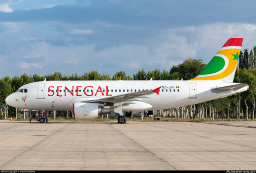
[[[99,115],[109,113],[110,109],[102,108],[96,103],[73,103],[73,116],[75,119],[98,118]]]

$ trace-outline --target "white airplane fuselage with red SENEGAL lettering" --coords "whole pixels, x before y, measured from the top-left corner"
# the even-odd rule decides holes
[[[26,84],[6,98],[6,102],[20,109],[72,110],[73,103],[107,98],[126,93],[160,88],[159,95],[153,93],[146,98],[131,100],[123,105],[123,111],[160,110],[182,107],[248,90],[248,86],[237,91],[212,92],[212,87],[231,86],[236,83],[212,81],[42,81]],[[69,90],[69,92],[67,91]],[[24,92],[27,91],[27,92]],[[129,100],[128,100],[129,101]],[[146,103],[146,104],[145,104]]]

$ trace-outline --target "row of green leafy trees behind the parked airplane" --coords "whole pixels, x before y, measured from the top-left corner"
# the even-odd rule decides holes
[[[7,116],[15,114],[15,109],[10,108],[5,103],[5,98],[14,93],[19,87],[31,83],[47,80],[189,80],[196,77],[205,68],[206,64],[202,59],[192,59],[188,57],[181,64],[172,66],[169,71],[153,71],[139,70],[133,74],[133,77],[127,75],[125,71],[118,71],[113,77],[107,74],[100,74],[96,70],[85,72],[83,75],[62,75],[61,72],[54,72],[50,75],[40,76],[38,74],[27,75],[22,74],[20,77],[9,76],[3,77],[0,80],[0,105],[5,108]],[[255,114],[255,98],[256,98],[256,46],[250,51],[248,49],[240,52],[238,67],[236,69],[234,82],[248,84],[250,90],[239,94],[228,96],[225,98],[212,100],[201,103],[197,117],[210,119],[254,119]],[[239,101],[241,106],[241,114],[239,114]],[[10,111],[9,111],[10,108]],[[175,108],[176,118],[192,118],[195,106],[185,106]],[[2,109],[0,110],[2,115]]]

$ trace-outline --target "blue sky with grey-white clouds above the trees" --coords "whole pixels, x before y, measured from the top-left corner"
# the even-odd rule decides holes
[[[256,44],[254,0],[0,0],[0,78],[208,63],[227,39]]]

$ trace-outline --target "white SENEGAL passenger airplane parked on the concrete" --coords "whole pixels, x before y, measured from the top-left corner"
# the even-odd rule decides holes
[[[202,72],[191,80],[44,81],[25,84],[5,102],[19,109],[68,110],[76,119],[92,119],[114,111],[172,109],[247,91],[233,83],[243,38],[231,38]]]

